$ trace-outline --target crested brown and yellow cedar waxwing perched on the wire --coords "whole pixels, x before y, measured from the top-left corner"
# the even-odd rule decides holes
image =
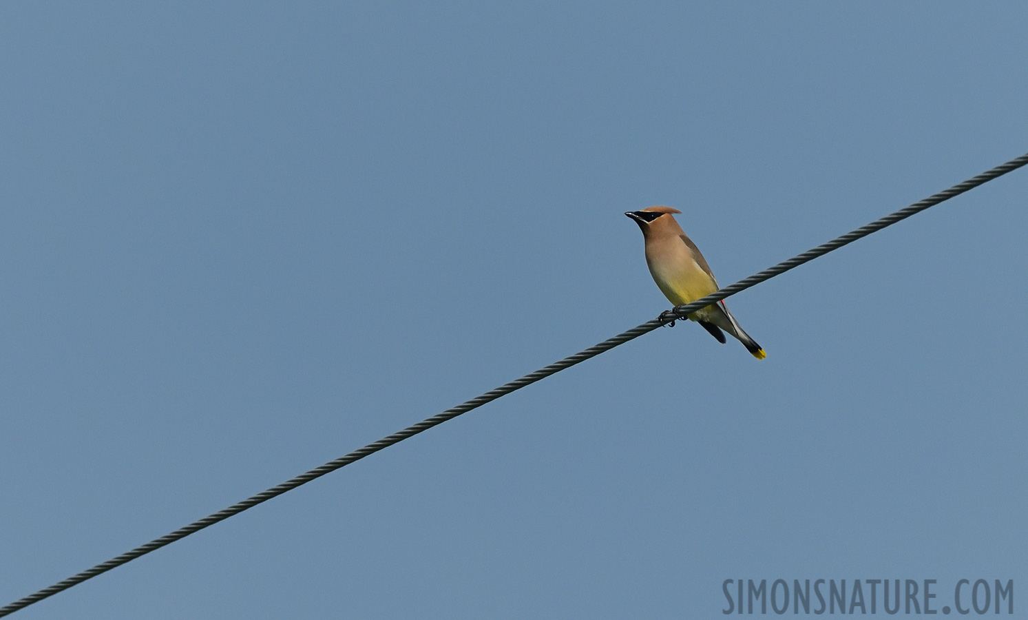
[[[718,281],[713,279],[699,248],[674,221],[672,213],[682,212],[670,207],[650,207],[642,211],[629,211],[625,215],[635,220],[642,229],[646,263],[657,286],[671,303],[683,305],[717,291]],[[761,345],[742,331],[724,301],[700,308],[689,315],[689,319],[702,325],[723,344],[725,334],[721,330],[738,338],[758,360],[767,357]]]

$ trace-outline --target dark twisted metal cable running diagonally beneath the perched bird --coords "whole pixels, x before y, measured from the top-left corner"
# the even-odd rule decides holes
[[[34,603],[38,603],[39,600],[42,600],[43,598],[46,598],[47,596],[52,596],[53,594],[57,594],[58,592],[62,592],[64,590],[67,590],[68,588],[70,588],[70,587],[72,587],[74,585],[80,584],[80,583],[82,583],[83,581],[85,581],[87,579],[91,579],[91,578],[94,578],[94,577],[96,577],[98,575],[106,573],[107,571],[110,571],[111,569],[114,569],[116,567],[120,567],[123,563],[127,563],[127,562],[136,559],[137,557],[140,557],[142,555],[146,555],[150,551],[154,551],[156,549],[159,549],[159,548],[163,547],[164,545],[170,545],[171,543],[174,543],[177,540],[183,539],[183,538],[189,536],[190,534],[194,534],[196,532],[199,532],[200,530],[204,530],[205,527],[208,527],[209,525],[213,525],[213,524],[217,523],[218,521],[227,519],[228,517],[236,515],[236,514],[243,512],[244,510],[248,510],[250,508],[253,508],[254,506],[256,506],[258,504],[261,504],[263,502],[266,502],[266,501],[270,500],[271,498],[281,496],[282,494],[284,494],[284,493],[286,493],[288,490],[292,490],[292,489],[296,488],[297,486],[300,486],[301,484],[306,484],[307,482],[314,480],[315,478],[320,478],[321,476],[324,476],[325,474],[334,472],[335,470],[339,469],[340,467],[350,465],[351,463],[353,463],[355,461],[360,461],[361,459],[367,457],[368,454],[372,454],[372,453],[377,452],[378,450],[380,450],[382,448],[387,448],[387,447],[389,447],[389,446],[391,446],[391,445],[393,445],[395,443],[399,443],[399,442],[403,441],[404,439],[407,439],[409,437],[413,437],[414,435],[417,435],[418,433],[420,433],[423,431],[427,431],[427,430],[431,429],[434,426],[438,426],[438,425],[440,425],[440,424],[442,424],[442,423],[444,423],[444,422],[446,422],[448,420],[452,420],[452,418],[456,417],[457,415],[461,415],[462,413],[467,413],[468,411],[471,411],[472,409],[476,409],[476,408],[484,405],[485,403],[493,401],[493,400],[495,400],[495,399],[498,399],[498,398],[500,398],[502,396],[506,396],[506,395],[510,394],[511,392],[514,392],[515,390],[520,390],[521,388],[524,388],[525,386],[529,386],[531,384],[535,384],[536,381],[538,381],[540,379],[543,379],[543,378],[546,378],[546,377],[550,376],[551,374],[556,374],[557,372],[560,372],[561,370],[563,370],[565,368],[570,368],[570,367],[572,367],[572,366],[574,366],[576,364],[584,362],[584,361],[588,360],[589,358],[593,358],[593,357],[595,357],[595,356],[597,356],[597,355],[599,355],[599,354],[601,354],[601,353],[603,353],[605,351],[610,351],[611,349],[614,349],[615,347],[618,347],[620,344],[624,344],[625,342],[627,342],[629,340],[632,340],[634,338],[637,338],[637,337],[641,336],[645,333],[649,333],[649,332],[657,329],[658,327],[660,327],[662,325],[670,323],[671,321],[674,321],[674,320],[681,319],[681,318],[685,318],[686,316],[688,316],[688,315],[690,315],[690,314],[692,314],[692,313],[700,309],[701,307],[707,306],[707,305],[709,305],[711,303],[714,303],[717,301],[725,299],[726,297],[734,295],[735,293],[738,293],[739,291],[743,291],[745,289],[748,289],[751,286],[756,286],[756,285],[758,285],[758,284],[760,284],[760,283],[762,283],[762,282],[764,282],[766,280],[770,280],[771,278],[774,278],[775,276],[778,276],[778,275],[783,273],[783,272],[785,272],[785,271],[787,271],[790,269],[793,269],[793,268],[795,268],[795,267],[797,267],[799,265],[802,265],[805,262],[811,261],[811,260],[817,258],[818,256],[823,256],[824,254],[828,254],[829,252],[832,252],[833,250],[837,250],[837,249],[839,249],[839,248],[841,248],[841,247],[843,247],[843,246],[845,246],[847,244],[850,244],[850,243],[852,243],[852,242],[854,242],[854,241],[856,241],[856,240],[858,240],[860,238],[867,236],[867,235],[871,234],[872,232],[876,232],[878,230],[881,230],[882,228],[885,228],[886,226],[890,226],[890,225],[898,222],[900,220],[907,219],[908,217],[910,217],[910,216],[912,216],[912,215],[914,215],[916,213],[920,213],[921,211],[924,211],[925,209],[928,209],[929,207],[933,207],[933,206],[935,206],[935,205],[938,205],[938,204],[940,204],[940,203],[942,203],[944,200],[948,200],[948,199],[952,198],[953,196],[959,195],[959,194],[961,194],[961,193],[963,193],[965,191],[968,191],[970,189],[974,189],[975,187],[978,187],[979,185],[982,185],[982,184],[987,183],[987,182],[989,182],[989,181],[991,181],[991,180],[993,180],[993,179],[995,179],[997,177],[1005,175],[1008,172],[1017,170],[1017,169],[1025,166],[1026,163],[1028,163],[1028,153],[1026,153],[1024,155],[1021,155],[1020,157],[1017,157],[1015,159],[1011,159],[1006,163],[1003,163],[1001,166],[997,166],[996,168],[993,168],[992,170],[990,170],[988,172],[982,173],[982,174],[978,175],[977,177],[975,177],[972,179],[968,179],[968,180],[964,181],[963,183],[959,183],[957,185],[954,185],[953,187],[951,187],[951,188],[949,188],[949,189],[947,189],[945,191],[941,191],[941,192],[939,192],[937,194],[928,196],[927,198],[924,198],[923,200],[919,200],[919,202],[914,203],[913,205],[911,205],[909,207],[905,207],[904,209],[901,209],[900,211],[896,211],[895,213],[889,214],[889,215],[887,215],[887,216],[885,216],[885,217],[883,217],[881,219],[875,220],[874,222],[871,222],[870,224],[868,224],[866,226],[861,226],[861,227],[857,228],[856,230],[852,230],[850,232],[847,232],[846,234],[843,234],[842,236],[836,238],[836,239],[832,240],[831,242],[829,242],[827,244],[817,246],[816,248],[813,248],[811,250],[807,250],[803,254],[799,254],[797,256],[794,256],[793,258],[790,258],[788,260],[780,262],[780,263],[774,265],[773,267],[764,269],[763,271],[760,271],[759,273],[755,273],[755,275],[752,275],[749,278],[746,278],[744,280],[740,280],[739,282],[736,282],[733,285],[727,286],[727,287],[725,287],[725,288],[723,288],[723,289],[721,289],[721,290],[719,290],[719,291],[717,291],[714,293],[711,293],[710,295],[707,295],[706,297],[703,297],[702,299],[698,299],[696,301],[693,301],[692,303],[687,303],[685,305],[675,306],[673,309],[670,309],[670,311],[665,311],[664,313],[661,313],[661,315],[659,317],[657,317],[656,319],[654,319],[652,321],[647,321],[646,323],[644,323],[644,324],[641,324],[641,325],[639,325],[637,327],[634,327],[632,329],[629,329],[628,331],[624,331],[624,332],[622,332],[622,333],[614,336],[613,338],[609,338],[607,340],[603,340],[599,344],[595,344],[593,347],[590,347],[589,349],[581,351],[581,352],[579,352],[579,353],[577,353],[577,354],[575,354],[573,356],[568,356],[568,357],[560,360],[559,362],[554,362],[553,364],[550,364],[549,366],[546,366],[544,368],[540,368],[539,370],[537,370],[535,372],[530,372],[530,373],[522,376],[519,379],[515,379],[515,380],[513,380],[513,381],[511,381],[509,384],[505,384],[505,385],[503,385],[503,386],[501,386],[501,387],[499,387],[499,388],[497,388],[494,390],[490,390],[489,392],[486,392],[485,394],[483,394],[483,395],[481,395],[481,396],[479,396],[477,398],[473,398],[473,399],[471,399],[471,400],[469,400],[469,401],[467,401],[467,402],[465,402],[463,404],[460,404],[460,405],[457,405],[455,407],[452,407],[450,409],[446,409],[442,413],[437,413],[436,415],[433,415],[432,417],[424,420],[424,421],[421,421],[421,422],[419,422],[419,423],[417,423],[417,424],[415,424],[413,426],[407,427],[406,429],[404,429],[402,431],[394,433],[394,434],[390,435],[389,437],[383,437],[383,438],[379,439],[378,441],[375,441],[374,443],[369,443],[368,445],[366,445],[366,446],[364,446],[364,447],[362,447],[362,448],[360,448],[358,450],[354,450],[353,452],[350,452],[348,454],[340,457],[340,458],[336,459],[335,461],[330,461],[330,462],[326,463],[325,465],[322,465],[321,467],[317,467],[317,468],[315,468],[315,469],[313,469],[313,470],[310,470],[308,472],[300,474],[299,476],[296,476],[295,478],[293,478],[291,480],[287,480],[287,481],[283,482],[282,484],[279,484],[278,486],[272,486],[271,488],[268,488],[265,491],[259,493],[259,494],[257,494],[257,495],[255,495],[253,497],[250,497],[250,498],[248,498],[248,499],[240,502],[238,504],[233,504],[232,506],[229,506],[228,508],[225,508],[224,510],[220,510],[220,511],[218,511],[218,512],[216,512],[216,513],[214,513],[212,515],[206,516],[206,517],[199,519],[198,521],[193,521],[192,523],[189,523],[185,527],[181,527],[179,530],[176,530],[175,532],[172,532],[171,534],[166,534],[164,536],[162,536],[162,537],[160,537],[158,539],[152,540],[149,543],[146,543],[145,545],[141,545],[141,546],[136,547],[135,549],[133,549],[131,551],[127,551],[125,553],[122,553],[121,555],[118,555],[117,557],[113,557],[113,558],[111,558],[111,559],[109,559],[109,560],[107,560],[107,561],[105,561],[103,563],[99,563],[99,564],[93,567],[91,569],[89,569],[87,571],[82,571],[81,573],[79,573],[77,575],[73,575],[72,577],[69,577],[68,579],[65,579],[64,581],[60,581],[60,582],[58,582],[58,583],[56,583],[56,584],[53,584],[53,585],[51,585],[51,586],[49,586],[47,588],[43,588],[43,589],[39,590],[38,592],[35,592],[34,594],[30,594],[30,595],[28,595],[28,596],[26,596],[24,598],[15,600],[14,603],[6,605],[6,606],[0,608],[0,617],[7,616],[7,615],[12,614],[12,613],[16,612],[17,610],[24,609],[24,608],[26,608],[26,607],[34,604]]]

